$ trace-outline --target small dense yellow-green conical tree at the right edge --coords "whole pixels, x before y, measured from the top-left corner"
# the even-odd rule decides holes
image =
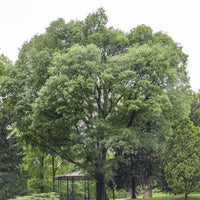
[[[185,118],[167,143],[165,173],[175,193],[194,192],[200,180],[200,129]]]

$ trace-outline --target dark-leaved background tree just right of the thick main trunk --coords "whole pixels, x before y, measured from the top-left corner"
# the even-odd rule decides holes
[[[144,193],[144,198],[152,197],[153,188],[164,189],[163,161],[165,145],[160,145],[150,138],[135,138],[137,145],[132,147],[116,149],[116,160],[118,167],[115,171],[115,183],[117,189],[126,189],[135,199],[137,194]],[[153,184],[154,182],[154,184]],[[166,191],[166,190],[165,190]]]

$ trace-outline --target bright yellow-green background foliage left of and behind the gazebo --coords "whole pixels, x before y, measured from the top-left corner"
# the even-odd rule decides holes
[[[57,155],[51,155],[41,147],[24,145],[23,168],[27,171],[29,194],[56,191],[53,177],[74,169]]]

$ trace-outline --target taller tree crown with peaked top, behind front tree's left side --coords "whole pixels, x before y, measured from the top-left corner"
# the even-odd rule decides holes
[[[83,22],[71,21],[65,24],[63,19],[52,22],[45,34],[34,36],[22,46],[17,62],[7,69],[8,76],[2,81],[3,95],[15,109],[15,124],[28,142],[32,143],[34,140],[30,137],[32,130],[29,128],[31,104],[49,77],[48,68],[55,53],[65,53],[74,44],[95,43],[103,49],[100,56],[105,58],[111,52],[114,54],[117,51],[118,48],[114,49],[116,45],[120,44],[121,48],[123,42],[120,38],[125,36],[122,32],[107,29],[106,18],[105,11],[99,9]],[[101,40],[98,41],[95,38],[99,35]],[[34,142],[39,143],[39,140]]]

